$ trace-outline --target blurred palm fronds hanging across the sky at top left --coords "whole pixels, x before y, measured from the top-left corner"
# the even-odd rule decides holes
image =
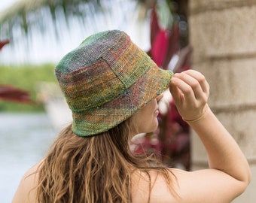
[[[134,8],[142,5],[142,2],[136,0],[20,0],[0,14],[0,32],[1,35],[8,35],[12,39],[14,32],[17,32],[17,27],[22,30],[23,35],[28,35],[32,29],[46,32],[49,22],[53,23],[56,30],[59,24],[66,23],[66,26],[70,26],[74,20],[78,20],[85,27],[88,26],[87,22],[97,26],[99,16],[110,17],[114,21],[116,14],[119,14],[119,18],[123,18],[125,14],[133,12]]]

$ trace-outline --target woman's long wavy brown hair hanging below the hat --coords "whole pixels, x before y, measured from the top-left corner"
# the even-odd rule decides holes
[[[148,174],[153,159],[133,155],[129,139],[127,121],[89,138],[68,126],[38,169],[38,202],[132,202],[131,174],[137,169]],[[166,168],[157,170],[169,181]]]

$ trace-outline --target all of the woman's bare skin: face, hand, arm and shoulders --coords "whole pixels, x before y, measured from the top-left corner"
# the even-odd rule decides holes
[[[209,84],[203,74],[189,70],[175,74],[170,83],[170,92],[175,99],[179,114],[185,120],[195,120],[189,125],[200,137],[209,157],[209,168],[199,171],[182,171],[170,168],[175,193],[169,190],[165,178],[150,171],[150,202],[179,203],[228,203],[240,195],[251,181],[251,171],[245,156],[233,137],[218,121],[210,108],[206,109],[209,98]],[[157,128],[157,102],[162,95],[152,100],[131,118],[133,134],[152,132]],[[24,175],[32,174],[35,165]],[[145,177],[145,178],[143,178]],[[173,177],[173,176],[172,176]],[[35,193],[28,191],[37,183],[37,177],[23,178],[13,203],[35,202]],[[132,177],[133,203],[148,202],[148,177],[139,171]],[[30,200],[30,201],[29,201]]]

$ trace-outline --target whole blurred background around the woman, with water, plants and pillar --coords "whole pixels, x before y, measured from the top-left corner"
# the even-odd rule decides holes
[[[1,0],[0,202],[11,202],[20,178],[72,120],[54,67],[84,38],[106,29],[125,31],[160,68],[205,74],[212,111],[256,174],[255,14],[250,0]],[[131,150],[155,153],[169,167],[207,167],[202,144],[168,93],[159,123],[156,132],[136,136]],[[253,177],[233,202],[255,202],[255,184]]]

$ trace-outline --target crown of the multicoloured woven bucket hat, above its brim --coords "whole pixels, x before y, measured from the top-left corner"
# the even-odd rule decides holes
[[[56,77],[72,111],[111,101],[136,83],[152,61],[125,32],[99,32],[56,66]]]

